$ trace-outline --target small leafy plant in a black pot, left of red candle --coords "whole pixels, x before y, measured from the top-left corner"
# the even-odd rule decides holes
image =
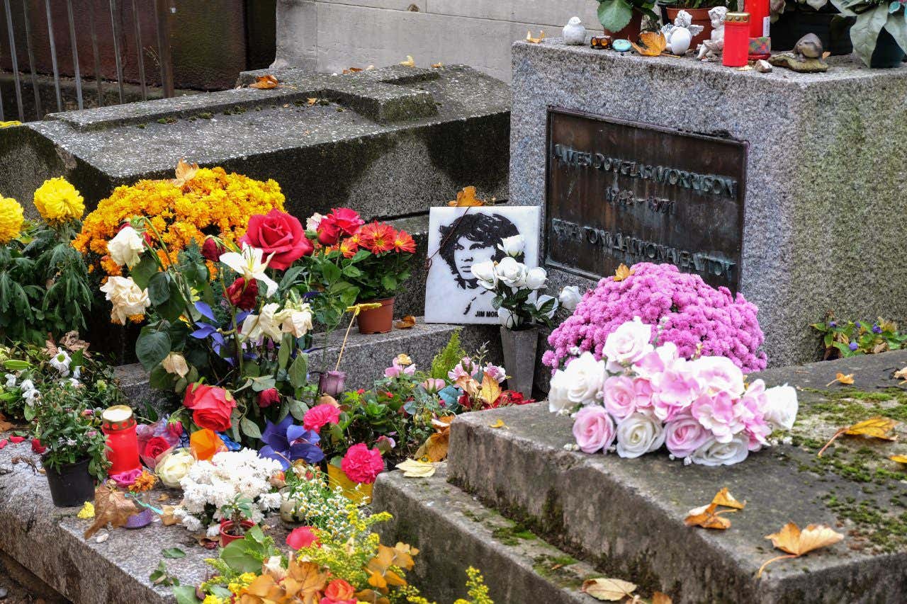
[[[92,501],[94,480],[103,481],[108,464],[98,414],[83,408],[79,388],[70,383],[50,388],[34,406],[33,444],[43,450],[41,464],[54,505]]]

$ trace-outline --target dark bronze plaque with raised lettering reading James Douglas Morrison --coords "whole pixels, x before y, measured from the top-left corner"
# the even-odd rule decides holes
[[[736,292],[746,147],[550,108],[547,264],[598,278],[670,262]]]

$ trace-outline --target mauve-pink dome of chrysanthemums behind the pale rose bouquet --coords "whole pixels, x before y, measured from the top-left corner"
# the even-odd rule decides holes
[[[586,351],[600,359],[607,337],[639,317],[651,326],[664,319],[658,344],[673,342],[680,356],[691,358],[701,346],[702,356],[727,356],[744,373],[766,368],[757,309],[742,294],[735,297],[727,287],[711,287],[671,264],[643,262],[633,270],[622,281],[602,279],[583,297],[573,315],[549,336],[545,365],[561,368]]]

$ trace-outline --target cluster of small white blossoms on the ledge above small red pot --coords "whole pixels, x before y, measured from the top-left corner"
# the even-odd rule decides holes
[[[214,520],[220,519],[220,507],[239,495],[257,503],[251,521],[259,522],[264,511],[280,507],[280,493],[272,492],[271,477],[281,471],[278,461],[258,457],[251,449],[217,453],[209,461],[192,464],[180,480],[182,502],[173,516],[190,531],[202,527],[206,507],[213,506]]]

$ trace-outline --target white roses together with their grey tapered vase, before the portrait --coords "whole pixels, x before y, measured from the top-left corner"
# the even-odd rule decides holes
[[[495,294],[492,306],[501,319],[504,366],[510,373],[507,385],[529,398],[539,340],[535,327],[551,325],[559,302],[555,297],[538,296],[548,279],[545,269],[528,268],[516,259],[522,258],[526,247],[522,235],[502,239],[499,247],[507,254],[505,258],[479,262],[472,271],[479,285]]]

